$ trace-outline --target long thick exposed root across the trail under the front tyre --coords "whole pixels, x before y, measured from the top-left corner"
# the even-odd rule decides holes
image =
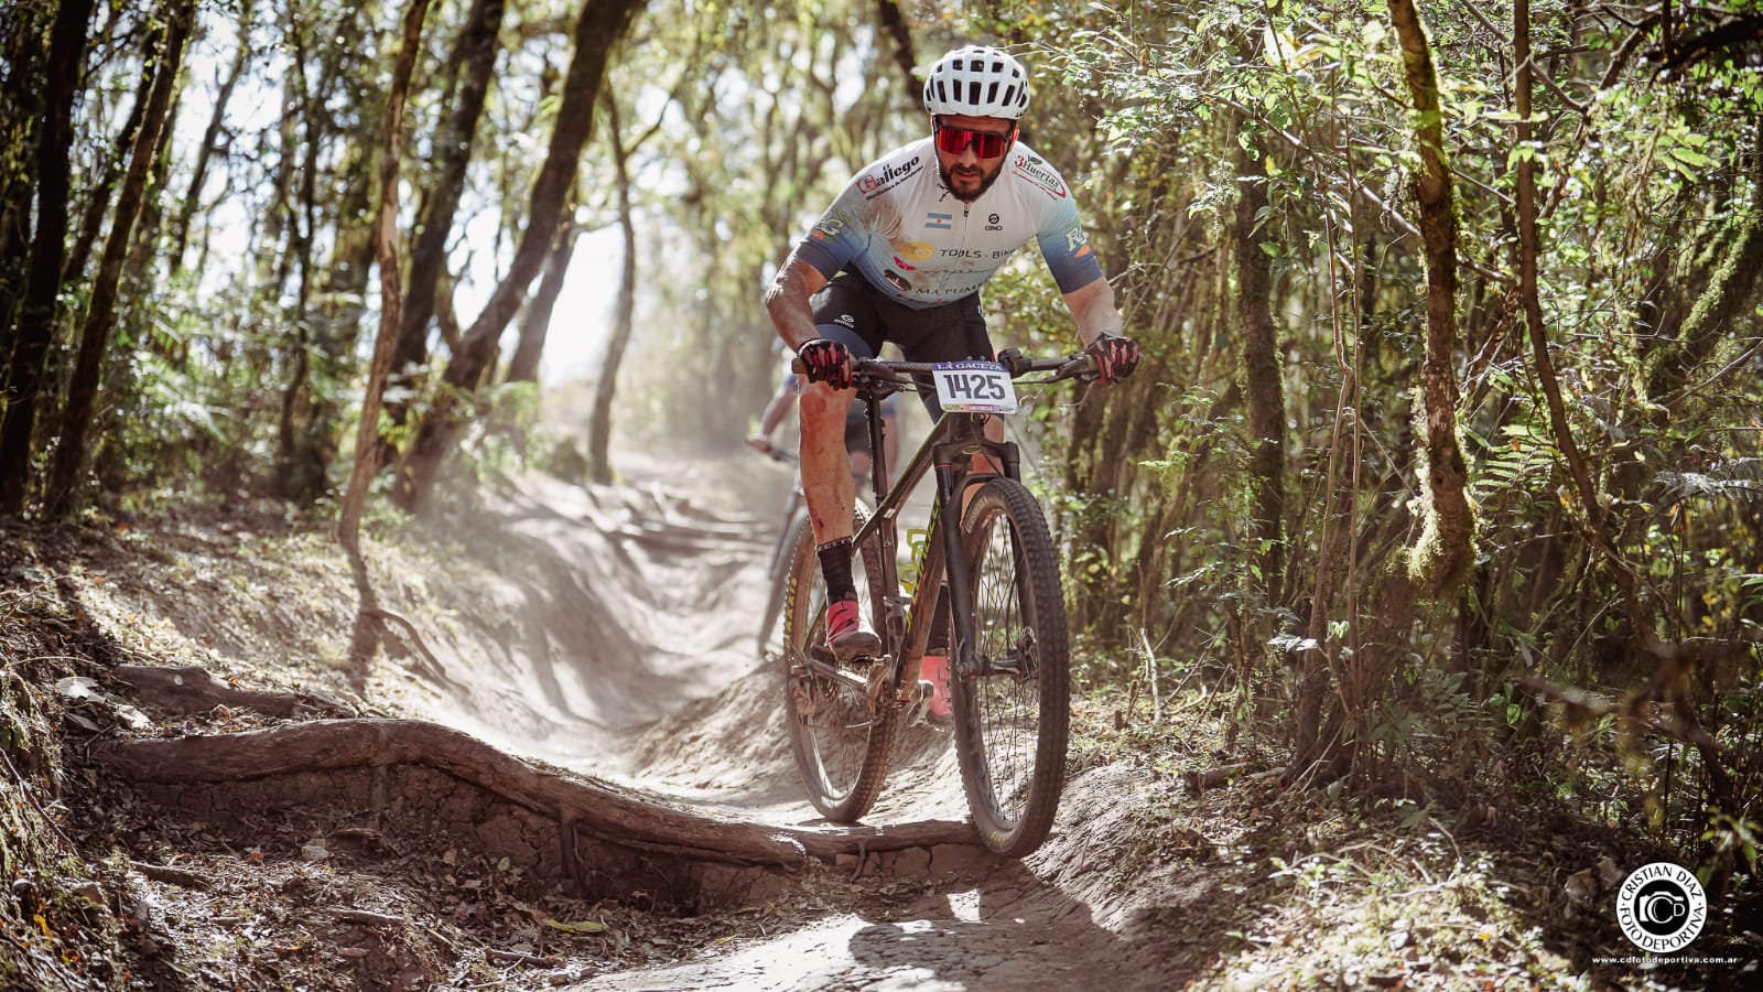
[[[238,734],[106,740],[93,743],[92,759],[116,775],[159,784],[423,764],[610,844],[728,865],[797,867],[807,858],[832,861],[864,849],[978,844],[973,824],[957,821],[793,828],[675,810],[568,771],[534,768],[421,720],[312,720]]]

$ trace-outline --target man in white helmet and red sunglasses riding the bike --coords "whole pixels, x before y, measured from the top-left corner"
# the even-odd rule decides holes
[[[827,584],[827,646],[841,662],[882,650],[852,581],[855,492],[839,445],[857,358],[876,357],[887,341],[908,362],[991,358],[978,291],[1035,240],[1100,380],[1118,381],[1139,364],[1070,187],[1017,141],[1028,109],[1023,65],[998,48],[950,51],[926,76],[924,109],[931,136],[857,173],[765,291],[777,335],[811,383],[800,395],[800,471]],[[934,394],[920,397],[934,420]],[[986,432],[1003,440],[1003,424],[993,418]],[[948,711],[947,627],[933,625],[941,653],[927,651],[920,667],[934,687],[933,718]]]

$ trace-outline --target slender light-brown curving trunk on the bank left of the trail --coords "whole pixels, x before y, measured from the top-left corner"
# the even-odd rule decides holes
[[[411,76],[416,72],[416,55],[423,41],[423,19],[428,0],[411,0],[404,11],[404,41],[398,62],[391,71],[391,92],[386,95],[386,143],[379,159],[379,221],[376,226],[379,256],[379,335],[374,339],[374,362],[367,371],[367,390],[361,395],[361,422],[354,432],[354,470],[337,515],[337,538],[354,552],[361,540],[361,507],[367,503],[367,485],[374,478],[379,438],[379,397],[386,392],[386,374],[391,369],[391,349],[398,341],[404,293],[398,267],[398,164],[404,159],[404,101],[409,95]]]

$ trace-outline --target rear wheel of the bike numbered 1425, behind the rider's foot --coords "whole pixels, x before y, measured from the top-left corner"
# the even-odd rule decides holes
[[[869,514],[857,508],[855,528]],[[827,641],[827,588],[815,556],[815,530],[804,526],[788,561],[783,609],[785,715],[790,747],[807,798],[834,823],[857,823],[874,805],[887,780],[899,710],[871,710],[864,692],[867,665],[841,665],[837,678],[811,664],[809,651]],[[880,540],[867,540],[852,554],[852,577],[864,616],[882,627],[885,595]],[[832,664],[830,657],[825,664]]]

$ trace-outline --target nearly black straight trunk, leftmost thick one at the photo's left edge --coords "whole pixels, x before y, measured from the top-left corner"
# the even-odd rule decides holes
[[[37,235],[26,267],[12,360],[7,365],[5,424],[0,425],[0,514],[16,514],[23,508],[25,480],[30,477],[30,441],[37,429],[44,362],[55,339],[55,309],[62,295],[62,265],[67,258],[72,116],[90,21],[92,0],[63,0],[49,34],[46,113],[37,132],[35,155]],[[145,168],[143,162],[143,175]]]

